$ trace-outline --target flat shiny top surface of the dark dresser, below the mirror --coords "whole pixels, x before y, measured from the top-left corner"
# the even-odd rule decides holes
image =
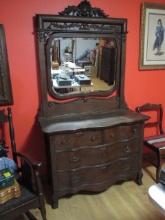
[[[116,125],[126,125],[144,122],[147,117],[133,111],[122,111],[115,114],[101,115],[90,118],[75,118],[60,120],[52,117],[39,118],[41,129],[44,133],[74,132],[83,129],[98,129]]]

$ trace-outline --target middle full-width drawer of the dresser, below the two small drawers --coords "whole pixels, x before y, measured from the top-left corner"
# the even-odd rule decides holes
[[[100,165],[120,157],[139,151],[138,139],[122,141],[92,147],[77,148],[68,151],[56,150],[56,169],[70,170],[74,168]]]

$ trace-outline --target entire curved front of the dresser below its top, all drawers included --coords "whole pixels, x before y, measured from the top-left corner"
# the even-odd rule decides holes
[[[140,123],[49,136],[55,198],[99,192],[129,179],[141,183],[143,126]]]

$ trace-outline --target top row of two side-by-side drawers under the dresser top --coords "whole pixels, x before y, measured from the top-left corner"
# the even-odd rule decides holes
[[[94,146],[103,143],[109,143],[122,140],[123,138],[131,138],[138,135],[138,126],[119,126],[114,128],[107,128],[104,130],[76,132],[59,134],[55,138],[56,149],[77,148],[81,146]],[[74,139],[73,139],[74,135]]]

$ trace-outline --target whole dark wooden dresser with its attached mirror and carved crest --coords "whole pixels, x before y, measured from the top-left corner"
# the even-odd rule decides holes
[[[36,32],[38,120],[45,136],[52,207],[66,195],[101,192],[127,180],[142,184],[146,117],[130,110],[124,98],[127,20],[109,18],[85,0],[59,15],[36,15]],[[107,72],[113,74],[107,77],[113,80],[111,85],[100,88],[98,84],[106,83],[99,78],[99,71],[106,69],[101,66],[103,47],[114,55],[109,67],[114,72]],[[68,54],[69,63],[64,61]],[[78,66],[81,62],[91,66]],[[90,76],[87,68],[92,70]]]

